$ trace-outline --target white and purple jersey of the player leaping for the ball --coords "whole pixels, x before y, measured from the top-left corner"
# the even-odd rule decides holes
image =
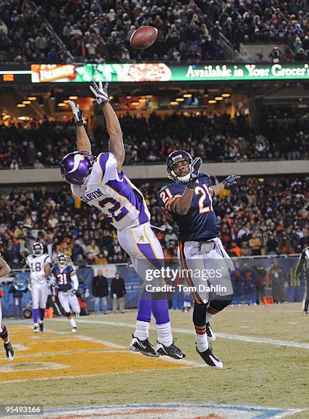
[[[85,186],[72,185],[72,193],[98,208],[118,230],[137,227],[150,220],[144,196],[121,171],[113,153],[98,155]]]

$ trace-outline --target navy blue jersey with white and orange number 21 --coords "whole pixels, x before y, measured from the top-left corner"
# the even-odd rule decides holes
[[[191,207],[186,215],[179,215],[171,211],[173,198],[183,196],[187,183],[170,183],[158,192],[158,201],[165,207],[178,226],[180,242],[214,238],[219,236],[217,216],[213,211],[213,200],[209,192],[211,179],[209,175],[200,173],[193,190]]]

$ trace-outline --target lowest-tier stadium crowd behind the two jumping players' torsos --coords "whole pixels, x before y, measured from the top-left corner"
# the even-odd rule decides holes
[[[217,181],[214,179],[214,181]],[[241,179],[215,199],[221,240],[231,256],[300,253],[308,244],[309,178]],[[176,257],[176,227],[157,203],[159,184],[140,186],[165,258]],[[78,267],[127,262],[116,230],[94,208],[62,189],[28,188],[2,192],[0,253],[12,268],[21,268],[31,244],[42,240],[55,259],[64,253]]]

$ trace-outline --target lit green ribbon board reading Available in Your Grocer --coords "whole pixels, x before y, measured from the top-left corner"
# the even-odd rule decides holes
[[[33,83],[91,81],[247,81],[309,79],[308,64],[33,64]]]

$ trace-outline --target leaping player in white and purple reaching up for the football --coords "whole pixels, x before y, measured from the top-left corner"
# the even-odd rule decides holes
[[[78,151],[63,158],[61,172],[64,179],[71,183],[73,194],[103,212],[116,227],[120,246],[130,255],[137,274],[146,284],[145,270],[161,266],[164,256],[161,244],[150,227],[150,214],[144,196],[122,171],[125,154],[122,131],[109,103],[107,87],[108,84],[105,84],[103,88],[100,82],[99,86],[94,83],[90,89],[96,96],[96,103],[103,107],[109,133],[109,152],[100,153],[96,159],[92,156],[90,140],[83,127],[82,111],[69,101],[77,124]],[[151,313],[156,319],[158,333],[155,350],[148,340]],[[165,293],[142,293],[130,349],[151,357],[185,357],[185,353],[174,344]]]

